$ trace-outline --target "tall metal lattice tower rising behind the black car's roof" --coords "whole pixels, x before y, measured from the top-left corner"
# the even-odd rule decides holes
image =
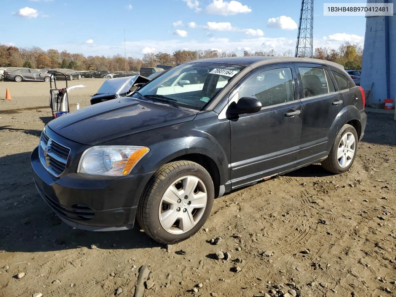
[[[295,57],[313,57],[314,0],[302,0]]]

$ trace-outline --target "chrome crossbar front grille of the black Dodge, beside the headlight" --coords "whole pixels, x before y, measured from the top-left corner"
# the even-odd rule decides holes
[[[38,154],[40,162],[52,175],[58,177],[66,168],[70,148],[53,141],[43,130],[40,137]]]

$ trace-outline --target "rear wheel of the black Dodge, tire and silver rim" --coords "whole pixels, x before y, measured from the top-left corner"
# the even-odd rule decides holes
[[[329,156],[322,161],[322,166],[332,173],[343,173],[352,166],[357,151],[358,134],[353,126],[345,124],[335,137]]]

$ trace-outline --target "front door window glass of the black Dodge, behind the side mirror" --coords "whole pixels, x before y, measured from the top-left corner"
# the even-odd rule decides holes
[[[254,75],[239,89],[238,97],[256,98],[262,107],[293,101],[291,69],[271,69]]]

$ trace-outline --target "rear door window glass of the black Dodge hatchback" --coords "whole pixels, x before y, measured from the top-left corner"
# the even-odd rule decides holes
[[[303,98],[327,94],[324,69],[313,67],[299,67],[298,69],[303,84]]]

